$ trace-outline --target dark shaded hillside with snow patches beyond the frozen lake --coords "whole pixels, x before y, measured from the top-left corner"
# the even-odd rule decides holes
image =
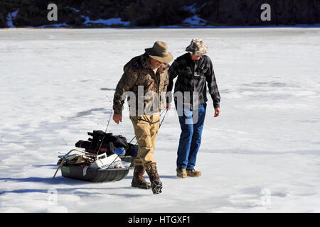
[[[265,4],[268,21],[261,18]],[[0,1],[0,28],[319,27],[319,7],[320,1],[311,0],[11,0]]]

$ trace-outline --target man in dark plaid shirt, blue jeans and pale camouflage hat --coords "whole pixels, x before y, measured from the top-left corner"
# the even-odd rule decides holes
[[[178,145],[176,172],[178,177],[198,177],[200,171],[194,170],[196,155],[201,144],[201,134],[206,116],[208,84],[209,94],[213,99],[215,117],[220,115],[220,94],[215,80],[213,64],[206,55],[208,47],[202,39],[193,38],[186,48],[186,54],[178,57],[169,68],[169,85],[172,91],[174,79],[174,101],[178,111],[181,135]],[[169,99],[171,95],[169,95]],[[170,100],[167,103],[169,109]]]

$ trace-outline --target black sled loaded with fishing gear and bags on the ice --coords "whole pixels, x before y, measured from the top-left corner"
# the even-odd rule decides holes
[[[103,131],[87,134],[92,138],[75,143],[75,147],[85,150],[73,149],[58,156],[58,170],[61,168],[63,177],[89,182],[110,182],[126,177],[129,169],[133,167],[134,157],[137,156],[137,145],[127,143],[127,139],[122,135]],[[115,153],[117,150],[118,153]],[[81,155],[70,154],[71,152]]]

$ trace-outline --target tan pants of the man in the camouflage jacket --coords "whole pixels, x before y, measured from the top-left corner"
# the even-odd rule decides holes
[[[143,165],[144,168],[154,161],[154,149],[156,148],[156,135],[159,131],[159,115],[130,116],[134,126],[134,134],[138,142],[138,155],[134,159],[134,165]]]

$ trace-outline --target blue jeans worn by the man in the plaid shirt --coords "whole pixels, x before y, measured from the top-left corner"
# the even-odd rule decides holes
[[[183,116],[178,116],[181,126],[181,134],[178,145],[176,166],[179,168],[193,170],[196,165],[197,153],[201,144],[203,123],[206,117],[206,108],[207,104],[205,103],[193,111],[183,109]],[[196,114],[198,116],[196,116]]]

